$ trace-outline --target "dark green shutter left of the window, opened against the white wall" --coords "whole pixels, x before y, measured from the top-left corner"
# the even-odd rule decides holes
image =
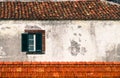
[[[28,51],[28,34],[23,33],[22,34],[22,52]]]

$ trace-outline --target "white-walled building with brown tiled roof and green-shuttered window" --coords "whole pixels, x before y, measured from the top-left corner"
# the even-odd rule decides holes
[[[0,61],[120,61],[119,5],[1,2],[0,7]]]

